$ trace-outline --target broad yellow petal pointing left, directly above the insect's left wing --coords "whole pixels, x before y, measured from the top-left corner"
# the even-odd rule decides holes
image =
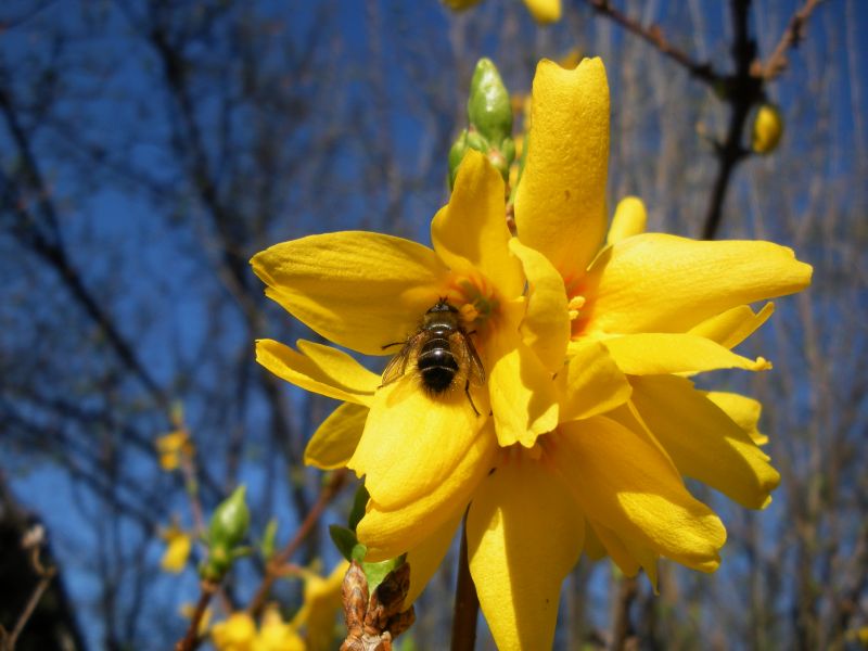
[[[366,355],[404,341],[448,286],[448,270],[432,250],[361,231],[276,244],[251,264],[269,298],[326,339]]]

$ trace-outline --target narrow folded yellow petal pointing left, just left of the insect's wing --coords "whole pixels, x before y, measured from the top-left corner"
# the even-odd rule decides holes
[[[336,348],[303,340],[297,345],[299,352],[273,340],[258,340],[256,361],[304,390],[347,403],[371,404],[380,375]]]

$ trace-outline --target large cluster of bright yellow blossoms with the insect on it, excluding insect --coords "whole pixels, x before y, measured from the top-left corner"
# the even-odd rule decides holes
[[[253,260],[269,296],[361,353],[401,341],[437,296],[470,306],[467,328],[488,374],[472,394],[478,417],[461,391],[381,387],[326,346],[299,342],[295,352],[266,341],[257,356],[345,401],[306,460],[367,475],[371,500],[357,533],[371,560],[408,552],[408,601],[470,503],[471,574],[500,649],[551,646],[561,583],[583,548],[629,575],[644,567],[652,580],[660,557],[717,567],[725,529],[682,477],[762,508],[778,475],[757,447],[758,405],[699,392],[688,376],[769,368],[731,352],[773,309],[748,304],[810,278],[790,250],[768,242],[646,233],[635,199],[618,205],[607,239],[602,63],[565,71],[541,62],[533,102],[518,238],[503,233],[499,176],[470,152],[432,224],[434,251],[335,233]]]

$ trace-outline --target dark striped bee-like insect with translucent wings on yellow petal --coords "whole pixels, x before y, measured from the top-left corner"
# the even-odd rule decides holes
[[[446,298],[441,298],[425,312],[419,330],[406,342],[383,346],[384,349],[390,346],[404,347],[383,371],[382,386],[401,378],[408,365],[412,363],[416,366],[422,386],[433,396],[439,396],[463,381],[470,406],[478,416],[480,412],[470,396],[470,385],[485,384],[485,369],[470,334],[472,333],[468,333],[461,326],[458,310],[449,305]]]

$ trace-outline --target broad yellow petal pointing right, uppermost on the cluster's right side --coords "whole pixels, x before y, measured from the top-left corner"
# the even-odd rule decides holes
[[[732,307],[805,289],[812,268],[770,242],[644,233],[593,261],[583,281],[587,331],[686,332]]]

